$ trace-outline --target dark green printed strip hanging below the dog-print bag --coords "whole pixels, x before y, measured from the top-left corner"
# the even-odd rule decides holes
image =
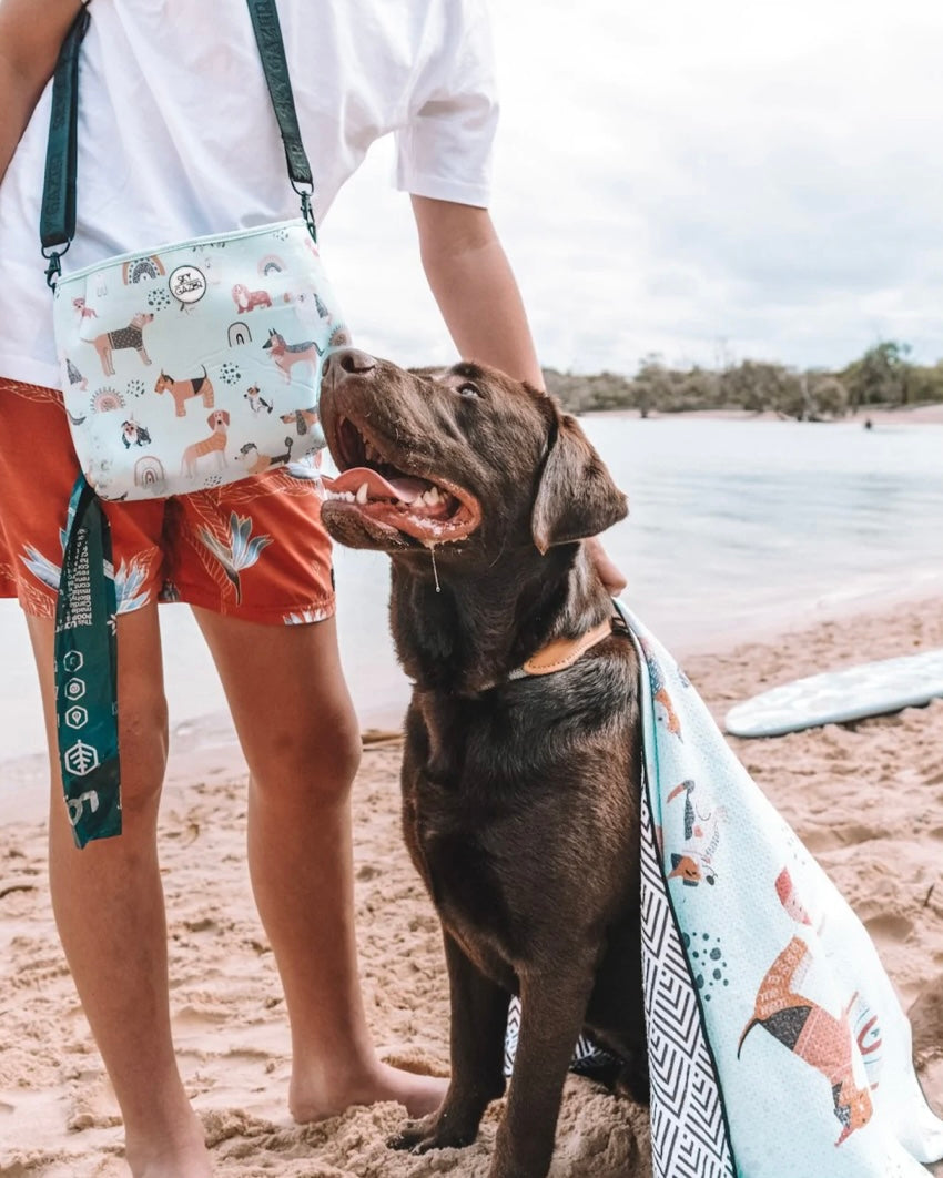
[[[72,489],[55,603],[55,727],[78,847],[121,833],[117,595],[111,530],[79,475]]]

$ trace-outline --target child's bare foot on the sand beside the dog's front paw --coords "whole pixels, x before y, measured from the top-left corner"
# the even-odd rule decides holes
[[[395,1100],[410,1117],[424,1117],[441,1104],[448,1080],[436,1076],[405,1072],[378,1060],[362,1074],[347,1076],[334,1084],[323,1077],[292,1077],[289,1093],[291,1116],[299,1123],[327,1120],[351,1105]]]

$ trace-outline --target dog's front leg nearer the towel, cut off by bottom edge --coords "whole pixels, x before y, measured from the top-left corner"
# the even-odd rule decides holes
[[[521,978],[521,1032],[489,1178],[545,1178],[573,1048],[593,988],[593,964],[558,948],[554,977]]]

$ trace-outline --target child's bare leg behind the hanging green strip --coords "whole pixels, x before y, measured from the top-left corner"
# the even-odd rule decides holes
[[[157,810],[167,752],[157,608],[120,615],[120,838],[79,851],[55,749],[53,622],[28,617],[52,765],[50,884],[59,935],[125,1121],[136,1178],[207,1178],[171,1043]]]

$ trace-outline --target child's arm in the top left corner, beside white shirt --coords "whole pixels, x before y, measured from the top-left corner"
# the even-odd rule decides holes
[[[0,180],[80,7],[80,0],[0,0]]]

